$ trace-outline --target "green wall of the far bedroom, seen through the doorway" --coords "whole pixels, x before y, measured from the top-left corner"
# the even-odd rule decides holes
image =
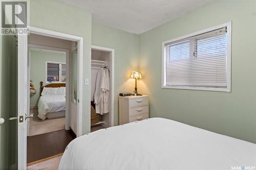
[[[40,97],[40,82],[46,82],[46,61],[66,63],[66,54],[46,51],[30,51],[30,80],[36,94],[30,96],[30,106],[37,106]]]

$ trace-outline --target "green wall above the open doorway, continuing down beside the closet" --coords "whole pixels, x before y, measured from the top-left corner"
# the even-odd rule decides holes
[[[83,37],[83,79],[91,77],[91,14],[56,0],[31,0],[30,25]],[[90,86],[83,86],[82,133],[90,132]]]

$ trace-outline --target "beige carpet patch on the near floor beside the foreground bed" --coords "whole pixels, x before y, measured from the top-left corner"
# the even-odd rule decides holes
[[[38,169],[55,170],[55,169],[58,169],[61,157],[62,157],[62,155],[59,155],[57,157],[29,165],[29,166],[27,166],[27,169],[28,170],[38,170]]]

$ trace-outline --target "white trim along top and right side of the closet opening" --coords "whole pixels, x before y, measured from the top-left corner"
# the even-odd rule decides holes
[[[114,66],[115,66],[115,50],[113,48],[107,48],[107,47],[102,47],[102,46],[96,46],[96,45],[92,45],[92,50],[98,50],[98,51],[103,51],[103,52],[110,52],[110,64],[111,64],[111,111],[110,111],[110,115],[111,115],[111,126],[114,126],[114,99],[115,99],[115,93],[114,93],[114,79],[115,79],[115,74],[114,74]]]

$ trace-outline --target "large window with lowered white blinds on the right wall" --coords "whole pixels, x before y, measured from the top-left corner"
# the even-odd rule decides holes
[[[230,91],[230,24],[163,42],[162,87]]]

